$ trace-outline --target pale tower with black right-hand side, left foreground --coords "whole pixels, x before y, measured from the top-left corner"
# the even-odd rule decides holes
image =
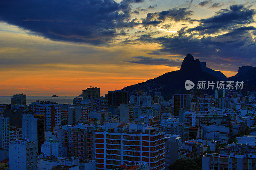
[[[41,152],[44,143],[44,115],[22,116],[22,138],[35,143],[38,153]]]

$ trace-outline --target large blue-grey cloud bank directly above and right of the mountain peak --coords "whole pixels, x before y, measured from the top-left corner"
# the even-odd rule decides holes
[[[161,49],[149,54],[154,55],[182,55],[195,54],[201,61],[209,62],[210,66],[219,70],[237,71],[243,65],[256,65],[256,43],[250,31],[253,26],[243,26],[231,30],[229,33],[216,37],[196,38],[193,34],[187,34],[183,27],[176,36],[152,37],[141,35],[140,42],[158,43]],[[163,64],[164,65],[164,64]]]

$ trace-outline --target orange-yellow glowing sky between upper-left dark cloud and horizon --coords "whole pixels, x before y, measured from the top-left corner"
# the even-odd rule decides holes
[[[79,95],[90,86],[104,95],[179,70],[124,62],[131,56],[153,56],[146,53],[159,48],[157,44],[97,47],[51,41],[14,26],[8,29],[0,31],[0,56],[7,60],[0,67],[0,95]],[[228,77],[236,74],[222,72]]]

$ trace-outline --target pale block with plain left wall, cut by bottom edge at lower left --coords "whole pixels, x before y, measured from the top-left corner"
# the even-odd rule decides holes
[[[37,148],[36,144],[28,139],[14,140],[9,147],[10,169],[36,170]]]

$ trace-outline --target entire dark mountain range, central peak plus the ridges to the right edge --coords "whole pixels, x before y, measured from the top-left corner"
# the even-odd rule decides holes
[[[171,99],[174,93],[188,92],[185,90],[185,81],[191,80],[195,84],[197,81],[244,81],[248,85],[248,90],[256,90],[256,68],[252,66],[240,67],[235,76],[227,78],[222,72],[212,70],[206,67],[205,62],[194,59],[191,54],[186,55],[180,70],[163,74],[157,78],[124,87],[123,90],[134,93],[136,90],[144,90],[145,92],[161,92],[165,99]],[[194,87],[194,90],[196,86]],[[193,89],[192,89],[193,90]],[[211,92],[211,90],[208,90]],[[213,92],[213,91],[212,91]]]

